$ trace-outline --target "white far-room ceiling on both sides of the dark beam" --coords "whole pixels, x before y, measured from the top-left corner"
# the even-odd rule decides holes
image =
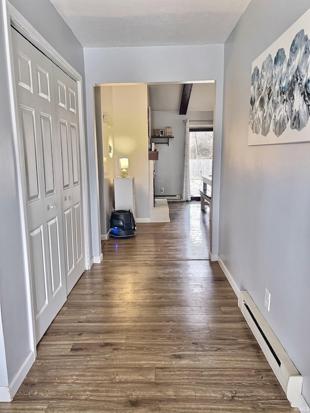
[[[149,85],[149,104],[152,110],[179,111],[183,84]],[[214,110],[215,83],[194,83],[187,111]]]

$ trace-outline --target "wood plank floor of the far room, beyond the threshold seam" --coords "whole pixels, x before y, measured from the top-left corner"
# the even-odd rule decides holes
[[[201,212],[200,202],[169,202],[169,209],[171,222],[138,224],[132,239],[103,243],[104,260],[149,260],[152,266],[152,260],[208,259],[209,214]]]

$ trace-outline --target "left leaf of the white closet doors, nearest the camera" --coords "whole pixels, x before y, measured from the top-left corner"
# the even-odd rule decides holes
[[[66,301],[53,63],[12,29],[38,342]],[[17,218],[16,218],[17,219]]]

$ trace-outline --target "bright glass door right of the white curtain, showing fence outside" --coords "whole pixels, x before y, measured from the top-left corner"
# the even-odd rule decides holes
[[[190,199],[200,200],[202,177],[212,179],[213,126],[189,128]],[[211,198],[211,186],[207,186]]]

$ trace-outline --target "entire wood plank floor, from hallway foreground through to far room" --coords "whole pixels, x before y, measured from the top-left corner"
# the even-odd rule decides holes
[[[292,412],[237,299],[208,255],[208,214],[109,239],[74,287],[0,412]],[[189,219],[190,218],[190,219]]]

